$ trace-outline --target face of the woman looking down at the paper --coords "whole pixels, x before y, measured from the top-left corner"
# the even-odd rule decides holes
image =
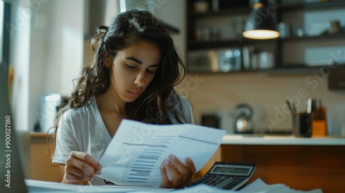
[[[120,50],[110,68],[110,89],[126,102],[135,101],[155,77],[159,61],[159,48],[148,41],[137,41]]]

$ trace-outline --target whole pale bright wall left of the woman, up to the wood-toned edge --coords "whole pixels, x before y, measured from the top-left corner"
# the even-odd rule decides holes
[[[12,108],[18,128],[34,130],[44,115],[41,96],[70,93],[83,62],[83,3],[13,1]]]

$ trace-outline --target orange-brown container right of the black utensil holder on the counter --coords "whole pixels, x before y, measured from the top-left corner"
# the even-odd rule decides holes
[[[317,108],[313,114],[313,133],[312,136],[326,136],[326,108]]]

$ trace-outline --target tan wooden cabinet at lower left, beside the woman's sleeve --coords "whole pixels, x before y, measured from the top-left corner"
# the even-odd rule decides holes
[[[31,179],[39,181],[58,181],[59,164],[52,163],[54,152],[49,148],[47,134],[31,134]]]

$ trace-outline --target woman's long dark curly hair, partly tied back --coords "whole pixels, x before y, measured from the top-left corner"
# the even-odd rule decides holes
[[[146,10],[128,10],[121,12],[112,19],[110,27],[100,26],[97,34],[91,39],[92,50],[95,52],[92,63],[81,71],[75,89],[68,101],[59,108],[55,121],[55,133],[59,120],[66,110],[86,105],[93,96],[106,92],[110,85],[110,73],[105,61],[114,59],[119,50],[124,50],[137,41],[155,43],[161,50],[161,61],[155,77],[139,98],[126,103],[124,117],[145,123],[171,124],[166,112],[172,112],[179,123],[179,112],[173,109],[180,103],[174,87],[184,79],[186,70],[175,50],[172,38],[159,23],[159,20]],[[180,103],[181,104],[181,103]],[[55,141],[55,139],[52,139]]]

